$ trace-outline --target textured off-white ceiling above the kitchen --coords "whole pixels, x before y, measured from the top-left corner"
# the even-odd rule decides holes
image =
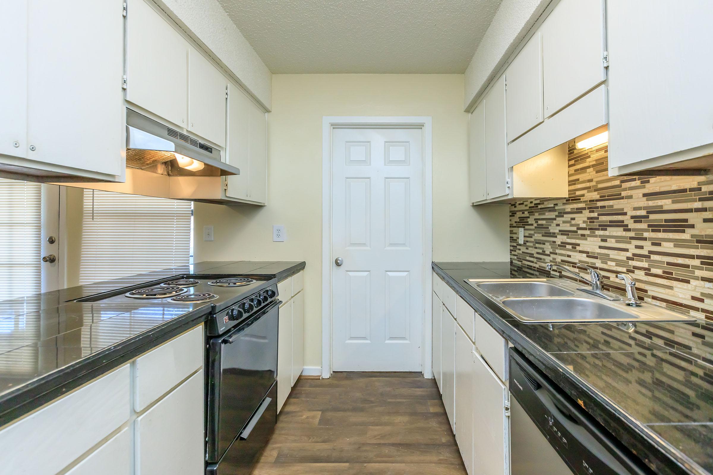
[[[463,73],[501,0],[219,0],[272,73]]]

